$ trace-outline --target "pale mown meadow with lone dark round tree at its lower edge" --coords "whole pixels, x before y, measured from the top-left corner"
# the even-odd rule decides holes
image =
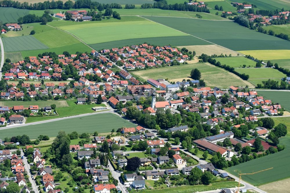
[[[254,88],[254,85],[248,81],[242,80],[240,77],[233,73],[230,73],[222,68],[216,67],[209,63],[193,63],[180,66],[170,66],[163,68],[152,68],[148,70],[139,70],[131,72],[136,77],[142,80],[168,78],[169,81],[182,81],[182,79],[191,79],[190,72],[193,68],[200,70],[206,86],[229,88],[231,85],[248,85],[250,88]]]

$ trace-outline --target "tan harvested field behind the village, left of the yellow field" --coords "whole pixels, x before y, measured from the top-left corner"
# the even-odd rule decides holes
[[[207,54],[211,56],[212,54],[226,54],[226,55],[232,55],[237,56],[237,52],[233,50],[229,50],[227,48],[224,48],[220,45],[186,45],[186,46],[178,46],[178,48],[186,48],[189,51],[195,51],[197,56],[200,56],[201,54]],[[240,54],[242,55],[242,54]]]

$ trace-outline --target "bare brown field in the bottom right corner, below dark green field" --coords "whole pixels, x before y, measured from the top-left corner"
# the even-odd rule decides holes
[[[284,192],[285,187],[290,187],[290,178],[259,186],[261,190],[268,193]]]

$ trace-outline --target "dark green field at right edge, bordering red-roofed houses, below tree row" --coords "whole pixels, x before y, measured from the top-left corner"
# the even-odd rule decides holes
[[[284,109],[290,111],[290,92],[285,91],[257,91],[264,99],[270,99],[274,103],[279,103]]]

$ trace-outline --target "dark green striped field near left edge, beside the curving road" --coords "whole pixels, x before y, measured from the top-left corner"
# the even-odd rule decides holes
[[[3,38],[5,52],[17,52],[23,50],[41,50],[48,47],[33,36],[19,36]]]

